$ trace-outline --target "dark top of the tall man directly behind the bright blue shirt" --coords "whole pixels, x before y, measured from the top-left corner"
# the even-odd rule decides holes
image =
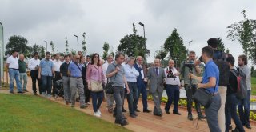
[[[221,50],[214,50],[213,60],[219,70],[218,86],[227,86],[230,78],[230,66],[226,62],[226,54]]]

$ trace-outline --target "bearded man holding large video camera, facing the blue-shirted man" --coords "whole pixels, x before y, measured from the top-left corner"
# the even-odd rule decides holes
[[[195,52],[190,51],[189,58],[186,61],[183,61],[180,67],[181,74],[182,74],[182,80],[184,81],[185,90],[186,90],[186,101],[187,101],[187,118],[189,120],[193,120],[193,115],[192,115],[192,96],[197,90],[197,80],[189,78],[188,74],[201,74],[201,70],[199,66],[194,66],[194,60],[195,60]],[[195,102],[195,109],[198,113],[198,119],[205,118],[205,116],[202,115],[201,112],[201,106],[198,102]]]

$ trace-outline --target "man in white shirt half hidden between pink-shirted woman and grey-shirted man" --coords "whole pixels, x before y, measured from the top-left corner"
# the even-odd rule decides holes
[[[113,62],[113,55],[112,54],[108,55],[106,59],[107,59],[107,62],[102,65],[103,74],[105,76],[105,84],[107,83],[106,70],[107,70],[107,67]],[[107,109],[109,113],[113,113],[113,104],[114,104],[113,94],[106,94],[106,102],[107,102]]]

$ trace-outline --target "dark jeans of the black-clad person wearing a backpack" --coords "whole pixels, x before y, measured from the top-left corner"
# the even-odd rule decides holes
[[[239,131],[245,131],[242,127],[242,122],[238,118],[237,114],[238,98],[235,94],[226,95],[226,104],[225,104],[225,117],[226,117],[226,131],[229,131],[229,126],[231,124],[231,117],[234,120],[236,128]]]

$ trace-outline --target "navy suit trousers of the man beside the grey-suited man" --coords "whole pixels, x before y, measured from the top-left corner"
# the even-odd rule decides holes
[[[142,104],[143,104],[143,110],[147,110],[147,91],[146,91],[146,83],[142,80],[141,84],[137,84],[138,87],[138,97],[140,94],[142,94]],[[138,105],[138,102],[137,102]],[[138,107],[134,107],[135,110],[138,109]]]

